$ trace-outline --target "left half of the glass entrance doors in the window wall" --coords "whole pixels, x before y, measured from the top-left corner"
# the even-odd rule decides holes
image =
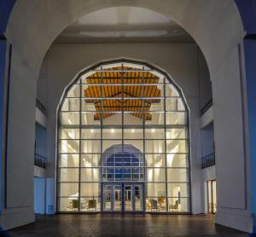
[[[102,190],[102,211],[122,211],[122,185],[103,183]]]

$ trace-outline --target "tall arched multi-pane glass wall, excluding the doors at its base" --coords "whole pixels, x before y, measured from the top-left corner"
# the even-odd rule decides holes
[[[81,74],[59,107],[58,211],[102,211],[102,182],[113,177],[143,182],[143,211],[188,212],[188,118],[177,87],[154,68],[122,61]],[[113,167],[112,147],[123,149]],[[124,166],[125,175],[109,173]]]

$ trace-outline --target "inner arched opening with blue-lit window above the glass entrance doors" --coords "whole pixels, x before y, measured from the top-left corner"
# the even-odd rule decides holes
[[[102,211],[144,211],[146,161],[130,144],[117,144],[102,153]],[[147,195],[147,194],[146,194]]]

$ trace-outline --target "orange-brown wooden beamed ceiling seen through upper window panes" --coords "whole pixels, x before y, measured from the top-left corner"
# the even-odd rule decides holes
[[[112,112],[122,111],[131,112],[139,119],[151,120],[151,114],[147,111],[152,103],[160,102],[158,83],[159,78],[151,72],[127,66],[113,67],[86,78],[89,85],[84,90],[84,101],[93,103],[96,111],[106,112],[95,113],[95,120],[101,119],[101,114],[102,119],[106,119],[115,114]]]

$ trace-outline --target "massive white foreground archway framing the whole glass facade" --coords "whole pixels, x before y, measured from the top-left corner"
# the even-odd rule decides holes
[[[244,141],[246,140],[246,128],[242,126],[243,117],[246,116],[245,102],[243,101],[245,90],[243,87],[244,77],[241,75],[242,46],[239,46],[244,32],[236,4],[232,0],[225,2],[215,0],[211,2],[141,0],[136,3],[131,1],[120,3],[110,0],[102,3],[102,1],[85,2],[81,0],[76,3],[71,1],[65,3],[54,1],[48,4],[21,1],[16,3],[7,31],[9,43],[15,45],[10,73],[9,95],[11,99],[7,113],[9,118],[19,118],[19,121],[12,119],[7,130],[9,134],[18,131],[20,136],[12,136],[8,138],[7,142],[6,156],[8,159],[5,160],[5,182],[8,182],[9,185],[4,197],[8,200],[5,207],[7,210],[8,208],[19,210],[19,213],[22,213],[19,215],[24,216],[22,223],[32,222],[32,207],[27,195],[32,197],[34,143],[32,128],[35,115],[36,80],[49,45],[66,26],[81,15],[119,4],[154,9],[162,14],[170,15],[195,38],[196,43],[201,47],[211,73],[215,105],[217,175],[218,188],[221,190],[218,193],[219,208],[216,219],[218,223],[227,226],[235,227],[233,224],[235,222],[241,223],[241,227],[239,227],[241,229],[250,229],[250,218],[248,217],[247,221],[241,220],[241,217],[249,216],[250,213],[250,200],[247,194],[250,190],[247,184],[249,163],[247,162],[246,141]],[[28,12],[30,14],[27,14]],[[23,20],[20,20],[20,15],[24,16]],[[8,81],[7,78],[6,81]],[[227,94],[229,95],[228,100]],[[22,99],[20,99],[20,95],[24,95]],[[23,113],[25,109],[27,113]],[[26,141],[21,136],[24,130],[26,131]],[[17,157],[20,162],[16,162]],[[236,160],[234,160],[235,158]],[[29,172],[23,169],[25,167],[29,167],[27,168]],[[229,172],[226,172],[226,167],[229,168]],[[21,187],[20,181],[26,183],[25,188],[28,190],[20,199],[15,199],[20,195],[20,189],[17,188]],[[230,190],[232,182],[236,182],[237,185]],[[241,199],[233,199],[240,194],[243,194]],[[27,212],[30,214],[27,215]],[[16,215],[13,212],[10,213]],[[227,213],[232,213],[233,223]],[[236,217],[241,222],[235,221]],[[6,226],[9,226],[8,222]]]

